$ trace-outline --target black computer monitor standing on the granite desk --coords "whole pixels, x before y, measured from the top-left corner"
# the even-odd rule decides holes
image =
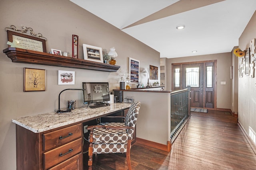
[[[110,100],[108,82],[82,82],[84,104]]]

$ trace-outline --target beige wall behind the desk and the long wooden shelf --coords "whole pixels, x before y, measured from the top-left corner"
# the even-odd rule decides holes
[[[116,65],[128,69],[128,57],[140,60],[140,67],[147,70],[150,64],[160,66],[160,54],[140,41],[123,33],[116,27],[76,6],[69,0],[34,1],[1,0],[0,2],[0,49],[6,49],[7,33],[4,27],[25,25],[35,33],[47,37],[46,49],[72,52],[72,34],[79,36],[79,58],[83,58],[82,44],[94,45],[109,50],[114,46],[118,57]],[[23,92],[23,69],[46,69],[46,91]],[[75,85],[58,85],[58,70],[75,71]],[[54,111],[58,106],[58,94],[66,88],[81,88],[85,81],[107,81],[110,89],[117,88],[119,76],[116,72],[72,69],[55,66],[12,63],[0,53],[0,169],[16,169],[16,137],[13,118]],[[146,84],[146,74],[140,74]],[[152,83],[152,82],[150,82]],[[135,85],[134,85],[135,86]],[[82,93],[68,91],[62,94],[61,107],[65,101],[75,99],[82,106]]]

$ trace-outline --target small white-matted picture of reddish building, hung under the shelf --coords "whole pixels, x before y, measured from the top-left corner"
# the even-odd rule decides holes
[[[58,85],[75,84],[75,72],[58,70]]]

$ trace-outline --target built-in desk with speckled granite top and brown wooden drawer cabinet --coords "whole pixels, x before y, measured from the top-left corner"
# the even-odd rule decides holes
[[[84,123],[125,111],[130,103],[76,108],[70,113],[44,113],[13,119],[16,123],[17,170],[70,170],[83,167]]]

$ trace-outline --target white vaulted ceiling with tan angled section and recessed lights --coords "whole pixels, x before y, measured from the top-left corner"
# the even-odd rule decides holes
[[[256,10],[256,0],[70,1],[167,58],[230,52]]]

